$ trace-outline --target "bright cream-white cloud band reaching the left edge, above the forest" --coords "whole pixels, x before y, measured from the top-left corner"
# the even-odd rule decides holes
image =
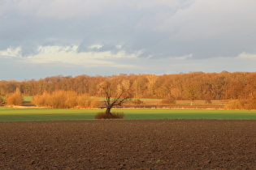
[[[100,48],[102,45],[92,45],[91,48]],[[117,45],[119,46],[119,45]],[[77,45],[72,46],[39,46],[37,47],[37,54],[28,57],[20,57],[22,51],[21,47],[15,49],[7,49],[0,51],[1,57],[9,58],[13,62],[21,62],[25,64],[51,64],[63,63],[67,65],[76,65],[84,67],[94,66],[111,66],[117,68],[132,68],[132,65],[115,62],[116,59],[122,58],[136,58],[138,53],[127,54],[124,51],[118,53],[105,52],[83,52],[77,53]],[[16,58],[16,59],[15,59]]]

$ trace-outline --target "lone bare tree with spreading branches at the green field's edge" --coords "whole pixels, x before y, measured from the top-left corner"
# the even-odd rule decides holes
[[[105,97],[106,114],[111,114],[111,108],[117,105],[121,106],[124,100],[131,98],[129,89],[130,82],[128,80],[123,80],[122,83],[117,85],[112,84],[110,81],[99,85],[99,92]]]

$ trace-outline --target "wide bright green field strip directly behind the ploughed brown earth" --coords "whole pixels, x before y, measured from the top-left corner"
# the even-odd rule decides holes
[[[210,109],[113,109],[124,119],[256,119],[256,111]],[[104,109],[0,107],[0,121],[93,120]]]

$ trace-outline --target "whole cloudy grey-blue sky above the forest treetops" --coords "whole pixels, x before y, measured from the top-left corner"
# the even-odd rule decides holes
[[[0,79],[256,71],[255,0],[0,0]]]

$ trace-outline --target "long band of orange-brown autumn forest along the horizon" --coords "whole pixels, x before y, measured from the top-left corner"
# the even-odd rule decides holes
[[[44,92],[76,91],[78,95],[99,96],[98,86],[104,81],[130,86],[132,98],[175,100],[251,100],[256,97],[256,72],[180,74],[118,74],[111,76],[76,77],[57,75],[45,79],[0,81],[0,96],[7,96],[17,88],[23,96]]]

